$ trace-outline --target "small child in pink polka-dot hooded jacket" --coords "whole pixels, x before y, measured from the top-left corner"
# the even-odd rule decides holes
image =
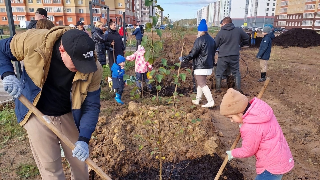
[[[143,81],[145,82],[147,89],[149,92],[152,91],[152,86],[148,84],[149,79],[147,78],[148,69],[151,71],[153,70],[152,65],[149,62],[146,62],[144,59],[144,53],[146,53],[143,46],[139,45],[138,50],[133,53],[131,56],[127,56],[125,59],[127,61],[136,60],[136,78],[137,78],[137,86],[139,87],[139,91],[141,92],[141,82],[142,77]]]

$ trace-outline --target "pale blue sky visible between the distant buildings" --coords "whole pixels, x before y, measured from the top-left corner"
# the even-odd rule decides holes
[[[164,16],[170,14],[170,19],[180,20],[196,18],[198,9],[215,1],[217,0],[158,0],[158,5],[163,7]]]

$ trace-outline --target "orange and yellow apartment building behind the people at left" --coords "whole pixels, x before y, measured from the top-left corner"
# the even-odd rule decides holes
[[[129,22],[136,19],[134,17],[135,13],[133,13],[135,0],[92,0],[92,3],[108,5],[110,19],[115,20],[116,17],[122,16],[122,12],[126,12],[126,18],[128,18],[126,20]],[[129,3],[129,6],[125,3]],[[19,25],[20,21],[34,20],[38,8],[47,10],[48,17],[56,26],[75,25],[79,20],[85,24],[90,24],[89,0],[11,0],[11,4],[15,25]],[[105,8],[93,6],[92,15],[94,22],[100,20],[107,23]],[[0,0],[0,25],[8,25],[4,0]]]

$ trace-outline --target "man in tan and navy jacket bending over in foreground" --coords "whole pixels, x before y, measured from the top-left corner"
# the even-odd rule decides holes
[[[43,180],[65,179],[60,144],[70,164],[72,180],[88,180],[89,141],[100,113],[102,67],[87,33],[68,26],[30,29],[0,40],[0,75],[4,90],[15,99],[18,123],[28,133]],[[12,61],[24,61],[21,80]],[[23,94],[76,147],[59,140],[19,97]]]

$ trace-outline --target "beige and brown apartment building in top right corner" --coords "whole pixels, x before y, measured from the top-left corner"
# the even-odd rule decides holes
[[[320,30],[320,3],[318,0],[278,0],[275,18],[276,27]]]

